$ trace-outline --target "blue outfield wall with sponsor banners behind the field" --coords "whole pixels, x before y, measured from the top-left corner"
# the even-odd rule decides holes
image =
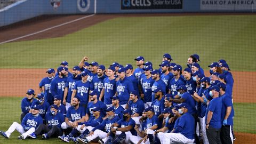
[[[22,0],[0,10],[0,26],[43,14],[255,12],[256,0]]]

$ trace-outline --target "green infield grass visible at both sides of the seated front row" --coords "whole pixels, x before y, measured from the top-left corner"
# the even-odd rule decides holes
[[[13,122],[20,123],[20,101],[22,98],[12,98],[12,97],[0,97],[0,130],[6,131]],[[256,111],[254,110],[256,103],[234,103],[235,118],[234,118],[234,130],[236,132],[246,132],[256,134],[256,126],[254,124],[254,119]],[[11,135],[11,140],[6,140],[0,137],[0,143],[18,143],[20,140],[17,139],[19,133],[15,131]],[[22,143],[33,143],[35,140],[26,139]],[[50,140],[41,140],[38,137],[36,143],[63,143],[57,138],[52,138]]]

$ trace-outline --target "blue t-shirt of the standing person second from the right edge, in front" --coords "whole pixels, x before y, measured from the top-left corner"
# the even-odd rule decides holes
[[[210,121],[210,126],[212,126],[215,129],[221,128],[221,107],[222,107],[222,101],[221,101],[221,98],[218,97],[218,98],[213,98],[206,109],[205,123],[207,123],[207,115],[209,111],[212,111],[213,115]]]

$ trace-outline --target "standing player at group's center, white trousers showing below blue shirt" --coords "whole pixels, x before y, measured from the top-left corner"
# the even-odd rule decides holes
[[[116,82],[116,94],[119,97],[120,105],[125,108],[129,100],[130,93],[134,90],[131,81],[125,77],[125,68],[119,68]]]

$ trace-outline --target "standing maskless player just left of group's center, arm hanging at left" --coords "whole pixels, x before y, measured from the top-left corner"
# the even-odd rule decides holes
[[[107,78],[103,81],[103,89],[100,93],[99,101],[102,101],[102,98],[104,96],[103,102],[106,103],[107,107],[110,107],[112,105],[111,98],[116,93],[116,78],[115,78],[115,68],[109,67],[107,69]]]

